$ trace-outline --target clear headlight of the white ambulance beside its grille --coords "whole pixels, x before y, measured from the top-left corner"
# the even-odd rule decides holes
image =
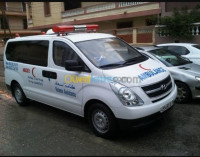
[[[137,94],[135,94],[130,88],[117,82],[111,82],[110,87],[113,90],[113,92],[118,96],[123,105],[132,107],[144,104],[142,99]]]

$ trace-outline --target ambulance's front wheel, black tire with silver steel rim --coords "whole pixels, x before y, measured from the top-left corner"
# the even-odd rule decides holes
[[[116,137],[117,124],[111,110],[102,103],[91,105],[87,115],[90,127],[96,136],[111,139]]]

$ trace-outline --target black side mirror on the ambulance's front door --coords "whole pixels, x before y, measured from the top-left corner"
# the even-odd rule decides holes
[[[65,69],[68,71],[84,71],[84,67],[78,64],[76,60],[66,60]]]

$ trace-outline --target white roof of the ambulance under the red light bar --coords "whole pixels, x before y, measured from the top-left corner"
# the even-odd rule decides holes
[[[34,36],[26,36],[26,37],[16,37],[14,39],[10,39],[10,41],[21,41],[21,40],[34,40],[34,39],[49,39],[49,38],[66,38],[71,40],[72,42],[80,42],[86,40],[93,39],[102,39],[102,38],[111,38],[114,37],[110,34],[104,33],[69,33],[68,35],[58,36],[57,34],[52,35],[34,35]]]

